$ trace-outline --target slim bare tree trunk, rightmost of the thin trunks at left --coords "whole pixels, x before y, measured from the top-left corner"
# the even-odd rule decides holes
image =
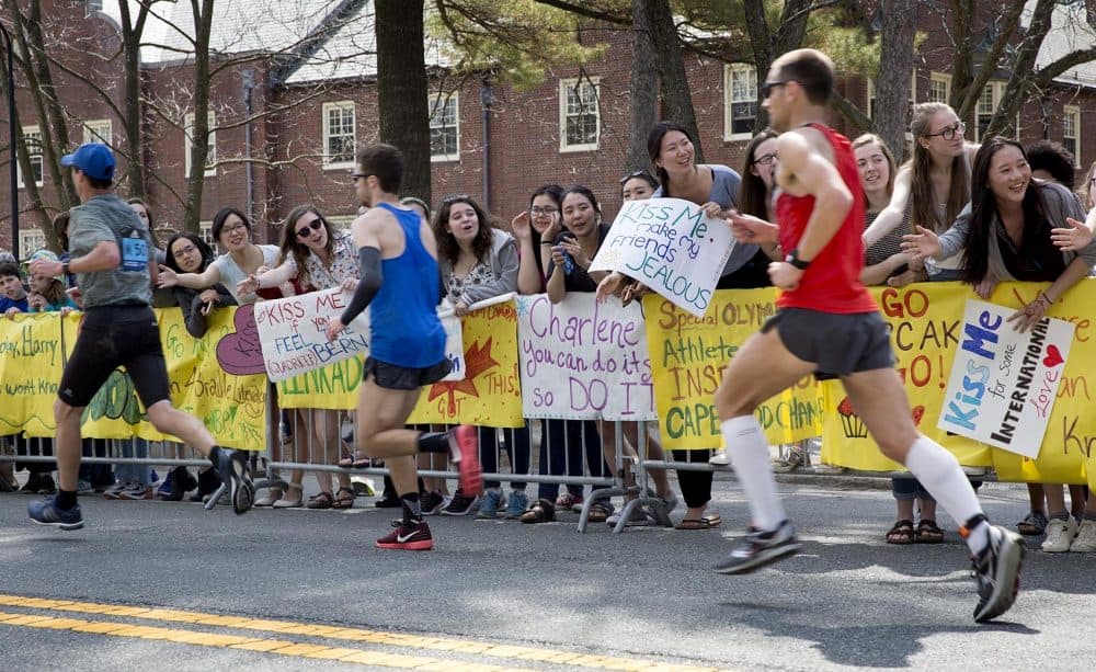
[[[213,30],[213,0],[191,0],[191,8],[194,13],[194,125],[189,129],[191,173],[187,175],[183,229],[197,234],[201,229],[205,169],[209,159],[209,34]]]

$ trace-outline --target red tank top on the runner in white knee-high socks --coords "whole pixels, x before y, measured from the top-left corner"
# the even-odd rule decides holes
[[[820,312],[855,314],[877,310],[876,301],[860,283],[864,269],[864,190],[856,171],[856,159],[848,138],[829,126],[811,124],[821,130],[833,147],[834,163],[845,186],[853,194],[853,207],[845,221],[803,272],[799,287],[781,292],[778,308],[809,308]],[[776,218],[780,225],[780,248],[795,250],[814,209],[814,196],[780,193]]]

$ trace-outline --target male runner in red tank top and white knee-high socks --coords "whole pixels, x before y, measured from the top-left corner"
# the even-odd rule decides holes
[[[963,523],[978,580],[974,619],[989,620],[1016,597],[1024,544],[989,524],[959,463],[913,423],[887,324],[858,280],[864,194],[848,140],[824,123],[833,82],[826,55],[798,49],[773,62],[762,87],[772,126],[783,132],[778,226],[737,214],[731,225],[739,240],[778,240],[787,257],[768,270],[781,291],[777,314],[742,345],[716,392],[723,443],[753,519],[744,543],[716,571],[745,573],[799,550],[754,411],[803,376],[836,377],[883,455],[904,464]]]

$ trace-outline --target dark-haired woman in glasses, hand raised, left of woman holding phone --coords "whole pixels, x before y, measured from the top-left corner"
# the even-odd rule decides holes
[[[560,204],[563,187],[544,184],[529,196],[528,209],[511,220],[511,230],[517,239],[517,291],[523,295],[543,294],[546,291],[546,269],[551,267],[551,249],[556,237],[563,230]],[[596,440],[597,424],[592,420],[561,420],[545,418],[540,421],[540,449],[537,474],[540,476],[582,476],[583,447]],[[533,451],[529,420],[525,426],[510,432],[506,442],[527,446]],[[539,483],[537,499],[524,512],[507,505],[506,516],[517,516],[523,523],[547,523],[556,520],[556,511],[580,511],[584,502],[582,486],[568,485],[563,493],[558,483]],[[511,501],[513,504],[513,501]]]

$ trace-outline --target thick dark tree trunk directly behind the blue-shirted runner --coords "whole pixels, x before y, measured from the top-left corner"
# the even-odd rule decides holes
[[[401,192],[431,203],[423,0],[383,0],[376,8],[380,140],[403,152]]]

